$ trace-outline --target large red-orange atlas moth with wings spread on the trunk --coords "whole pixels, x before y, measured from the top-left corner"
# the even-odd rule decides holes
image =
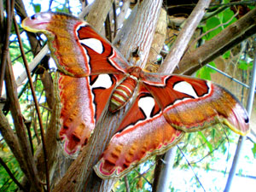
[[[246,110],[228,90],[203,79],[147,73],[131,66],[85,21],[72,15],[38,13],[22,22],[48,38],[61,72],[60,138],[75,154],[90,138],[106,105],[115,113],[134,98],[94,167],[102,178],[122,177],[153,154],[176,145],[184,132],[222,123],[244,136]]]

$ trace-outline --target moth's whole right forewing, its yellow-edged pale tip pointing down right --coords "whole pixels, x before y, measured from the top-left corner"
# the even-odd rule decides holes
[[[154,84],[154,78],[145,77],[148,91],[159,103],[166,120],[177,129],[201,131],[224,123],[241,135],[249,131],[246,110],[235,96],[219,85],[178,75],[160,76]]]

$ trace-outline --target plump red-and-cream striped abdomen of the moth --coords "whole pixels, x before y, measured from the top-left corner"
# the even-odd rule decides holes
[[[133,95],[136,85],[137,78],[131,75],[116,87],[109,104],[109,111],[111,113],[114,113],[125,106],[126,102],[128,102]]]

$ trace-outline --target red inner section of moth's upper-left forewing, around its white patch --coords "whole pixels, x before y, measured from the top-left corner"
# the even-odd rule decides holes
[[[90,74],[125,73],[129,64],[114,49],[106,38],[102,38],[88,23],[80,23],[75,28],[79,47],[88,61]]]

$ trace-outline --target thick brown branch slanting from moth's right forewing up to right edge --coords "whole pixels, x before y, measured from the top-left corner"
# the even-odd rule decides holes
[[[224,54],[225,51],[255,33],[255,26],[256,9],[253,9],[247,15],[241,17],[240,20],[226,27],[217,36],[201,45],[201,47],[191,52],[186,52],[179,63],[179,68],[174,73],[194,73],[197,69],[206,65],[207,62],[214,60],[218,55]]]

